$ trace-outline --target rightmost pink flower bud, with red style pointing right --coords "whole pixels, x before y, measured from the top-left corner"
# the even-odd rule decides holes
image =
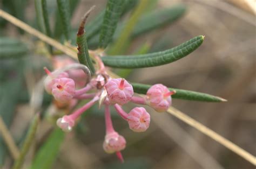
[[[153,85],[147,90],[147,103],[154,110],[164,112],[170,107],[172,103],[171,95],[173,94],[175,94],[175,91],[170,91],[164,85]]]

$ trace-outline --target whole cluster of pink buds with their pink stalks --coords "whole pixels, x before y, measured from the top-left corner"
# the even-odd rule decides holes
[[[134,132],[144,132],[150,125],[150,114],[143,107],[135,107],[129,113],[125,112],[122,106],[126,103],[133,102],[136,104],[147,104],[158,112],[166,111],[171,105],[171,95],[175,91],[161,84],[153,85],[147,90],[146,96],[134,96],[132,85],[125,79],[112,79],[106,73],[104,64],[99,57],[96,57],[99,62],[99,69],[96,75],[90,79],[90,72],[83,71],[85,66],[75,64],[69,61],[67,68],[65,64],[57,64],[58,69],[50,72],[45,68],[48,74],[44,81],[45,90],[55,97],[55,100],[60,103],[68,103],[71,101],[90,99],[85,105],[72,112],[70,115],[65,115],[57,120],[57,125],[63,131],[69,132],[76,123],[76,119],[83,114],[87,109],[92,107],[97,101],[100,105],[105,106],[105,124],[106,135],[103,143],[103,149],[107,153],[116,152],[117,157],[123,161],[120,151],[125,149],[126,140],[119,135],[113,128],[110,105],[113,105],[117,113],[127,121],[129,127]],[[63,62],[63,60],[59,60]],[[65,67],[65,68],[63,68]],[[82,71],[83,69],[83,71]],[[86,69],[87,70],[87,69]],[[82,71],[82,72],[81,72]],[[81,81],[84,80],[84,81]],[[87,79],[87,81],[85,81]],[[80,84],[85,86],[76,89]],[[92,92],[91,92],[92,91]]]

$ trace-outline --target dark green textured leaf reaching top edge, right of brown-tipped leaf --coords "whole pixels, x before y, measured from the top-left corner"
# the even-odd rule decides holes
[[[99,36],[99,47],[106,48],[112,40],[117,23],[123,11],[124,2],[120,0],[108,0],[104,14],[102,28]]]

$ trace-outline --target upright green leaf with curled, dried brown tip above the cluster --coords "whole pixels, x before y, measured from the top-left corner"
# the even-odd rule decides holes
[[[94,6],[93,6],[93,8],[94,8]],[[77,50],[78,50],[77,57],[78,57],[78,60],[79,60],[80,64],[87,66],[90,69],[92,74],[95,73],[95,68],[92,64],[92,61],[91,61],[91,58],[90,58],[90,55],[88,52],[86,34],[84,31],[84,25],[86,23],[87,17],[89,17],[89,14],[93,8],[91,8],[88,12],[85,13],[85,15],[82,19],[82,22],[80,23],[78,32],[77,32]]]

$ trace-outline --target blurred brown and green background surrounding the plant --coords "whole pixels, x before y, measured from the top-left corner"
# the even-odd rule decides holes
[[[169,65],[134,69],[129,72],[127,79],[147,84],[163,83],[173,88],[226,98],[228,102],[223,103],[175,99],[172,105],[255,156],[255,1],[151,1],[145,15],[177,4],[183,4],[186,10],[175,22],[133,37],[127,50],[122,51],[123,54],[132,54],[138,51],[138,46],[143,45],[147,46],[147,52],[163,51],[198,35],[204,35],[205,40],[188,57]],[[17,1],[20,4],[15,2],[1,0],[0,7],[37,27],[34,1]],[[79,2],[71,17],[74,28],[72,38],[76,38],[80,18],[92,5],[96,5],[96,9],[91,13],[88,23],[105,8],[106,1]],[[53,27],[56,23],[56,2],[48,1],[48,6]],[[129,16],[131,11],[122,20]],[[25,51],[21,49],[22,54],[17,54],[14,51],[21,46],[16,48],[12,44],[10,50],[5,48],[2,51],[5,55],[14,52],[11,59],[4,54],[0,58],[0,114],[17,145],[21,145],[35,113],[29,98],[34,90],[37,91],[35,86],[44,75],[43,67],[51,67],[51,62],[48,48],[42,41],[17,29],[3,18],[0,18],[0,24],[0,50],[5,48],[4,38],[20,40],[19,43],[26,48]],[[59,40],[63,41],[63,38]],[[95,48],[93,39],[91,43],[89,40],[89,45]],[[26,156],[24,168],[29,168],[35,150],[43,145],[55,124],[52,112],[56,108],[49,107],[51,102],[51,96],[44,94],[43,106],[40,108],[44,118],[38,127],[36,143]],[[131,104],[125,109],[130,110],[132,107],[134,105]],[[152,116],[151,126],[144,133],[132,132],[113,111],[114,128],[127,142],[126,149],[122,151],[124,164],[119,163],[115,154],[106,154],[102,149],[104,116],[96,107],[81,119],[74,132],[66,134],[59,141],[60,150],[53,160],[52,168],[255,168],[223,145],[170,114],[159,114],[152,109],[149,111]],[[2,168],[10,168],[13,162],[1,137],[0,162]]]

